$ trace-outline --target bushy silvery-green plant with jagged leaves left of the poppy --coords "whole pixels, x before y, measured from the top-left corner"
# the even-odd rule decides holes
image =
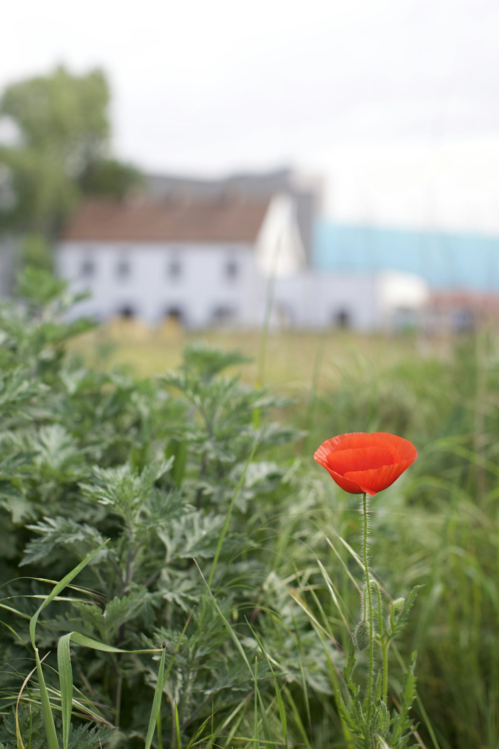
[[[2,579],[12,580],[4,601],[19,611],[4,612],[11,629],[0,631],[0,646],[22,664],[9,683],[19,689],[31,669],[21,614],[30,616],[49,592],[44,578],[60,580],[110,539],[77,586],[43,610],[37,625],[43,655],[73,630],[125,649],[157,647],[165,639],[164,742],[171,738],[171,700],[186,736],[212,714],[223,725],[237,703],[251,725],[254,676],[203,577],[211,579],[219,611],[253,660],[260,651],[249,622],[269,639],[277,636],[259,605],[274,531],[262,526],[258,508],[277,506],[294,491],[289,465],[272,451],[301,433],[267,416],[289,401],[245,385],[233,372],[224,375],[245,357],[203,345],[189,347],[179,371],[156,381],[88,368],[65,350],[89,324],[64,321],[70,304],[64,284],[30,271],[19,293],[22,303],[0,311],[0,568]],[[283,610],[285,598],[284,592],[275,601]],[[306,639],[306,619],[295,614],[293,627]],[[304,673],[313,688],[325,685],[321,646],[310,643],[301,670],[296,634],[285,640],[279,634],[278,646],[287,678]],[[76,687],[90,689],[94,703],[108,706],[105,718],[120,722],[120,732],[106,739],[76,721],[71,745],[143,746],[156,661],[78,646],[71,661]],[[45,663],[56,667],[55,656]],[[270,689],[272,705],[264,659],[258,680],[263,695]],[[5,730],[9,725],[6,718]]]

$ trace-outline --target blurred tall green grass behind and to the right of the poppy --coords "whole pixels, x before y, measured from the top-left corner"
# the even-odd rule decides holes
[[[420,734],[441,749],[499,746],[498,352],[498,337],[482,331],[456,339],[446,357],[359,360],[316,395],[316,444],[381,429],[420,450],[402,485],[373,501],[372,546],[384,585],[403,595],[423,584],[399,647],[405,658],[418,652]],[[343,521],[322,524],[327,535],[357,536],[355,509],[346,520],[348,501],[332,501]]]

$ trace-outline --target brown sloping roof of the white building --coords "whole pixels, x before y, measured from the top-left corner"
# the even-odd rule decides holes
[[[130,242],[254,242],[269,198],[227,195],[186,201],[83,201],[62,233],[63,240]]]

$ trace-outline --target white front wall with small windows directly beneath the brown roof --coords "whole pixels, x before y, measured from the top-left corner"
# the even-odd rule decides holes
[[[129,275],[119,275],[119,264],[129,263]],[[82,276],[85,262],[93,273]],[[180,273],[172,276],[176,262]],[[227,275],[227,264],[236,273]],[[73,289],[91,291],[79,315],[107,319],[129,307],[135,315],[156,324],[168,310],[178,309],[189,327],[212,324],[216,309],[233,311],[233,322],[260,325],[264,288],[254,252],[248,245],[195,245],[156,243],[62,243],[58,272],[73,281]]]

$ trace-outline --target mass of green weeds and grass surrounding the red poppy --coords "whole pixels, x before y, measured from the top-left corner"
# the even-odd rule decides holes
[[[497,749],[492,338],[360,358],[293,406],[202,345],[154,380],[88,367],[67,354],[90,327],[64,321],[71,303],[27,271],[0,312],[0,747],[364,746],[338,698],[350,710],[349,680],[367,681],[361,514],[312,455],[392,431],[420,457],[373,503],[376,582],[392,600],[423,585],[392,643],[392,717],[418,654],[393,746]]]

